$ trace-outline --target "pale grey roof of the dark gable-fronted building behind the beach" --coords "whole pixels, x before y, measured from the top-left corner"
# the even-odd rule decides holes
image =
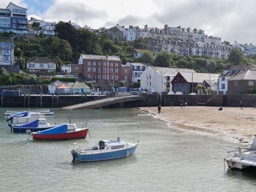
[[[180,72],[180,74],[186,79],[187,82],[192,82],[192,74],[193,74],[193,82],[194,83],[202,83],[204,80],[218,80],[218,76],[220,74],[213,73],[191,73],[191,72]],[[212,83],[211,83],[212,84]]]

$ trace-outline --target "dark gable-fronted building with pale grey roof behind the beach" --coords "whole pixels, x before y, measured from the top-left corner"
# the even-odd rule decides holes
[[[196,92],[196,87],[202,85],[204,81],[209,81],[208,85],[214,86],[214,83],[218,80],[218,76],[219,74],[178,72],[171,81],[172,91],[182,92],[183,94]]]

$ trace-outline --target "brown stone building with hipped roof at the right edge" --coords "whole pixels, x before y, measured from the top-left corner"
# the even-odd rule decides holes
[[[256,88],[256,71],[246,70],[242,74],[228,79],[227,94],[247,94],[251,88]]]

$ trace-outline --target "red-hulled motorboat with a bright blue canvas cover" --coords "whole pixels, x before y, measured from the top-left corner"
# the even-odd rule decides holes
[[[88,128],[77,128],[76,124],[61,124],[53,128],[32,132],[35,140],[66,140],[86,138]]]

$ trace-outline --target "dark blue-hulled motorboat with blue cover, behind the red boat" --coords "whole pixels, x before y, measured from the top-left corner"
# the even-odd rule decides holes
[[[56,127],[57,125],[50,125],[45,118],[38,118],[25,124],[12,125],[9,123],[8,126],[10,126],[13,132],[26,132],[26,130],[34,132]]]

